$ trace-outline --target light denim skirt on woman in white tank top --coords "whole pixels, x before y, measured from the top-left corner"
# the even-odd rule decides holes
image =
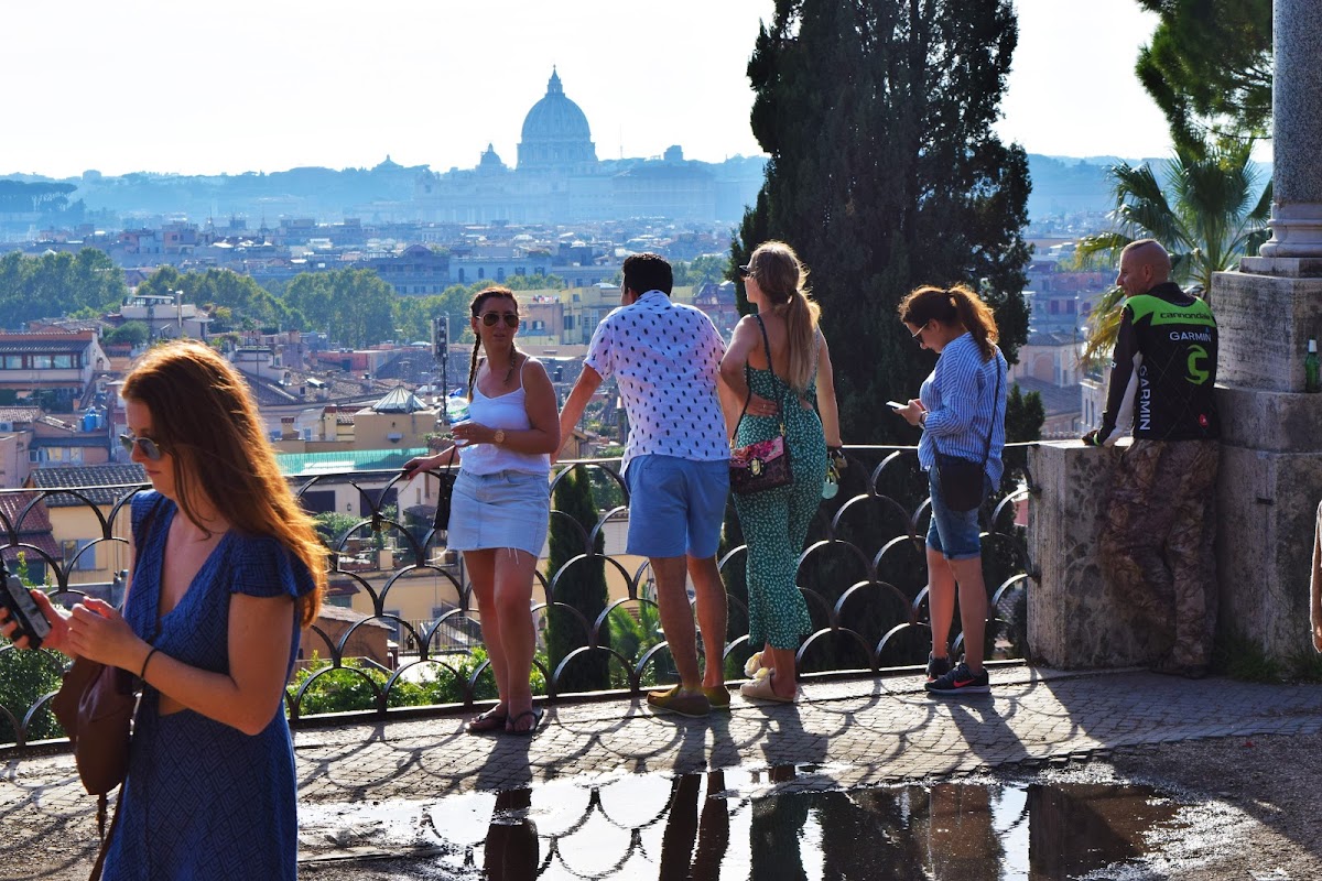
[[[541,556],[551,516],[549,474],[460,469],[449,502],[447,547],[455,551],[518,548]]]

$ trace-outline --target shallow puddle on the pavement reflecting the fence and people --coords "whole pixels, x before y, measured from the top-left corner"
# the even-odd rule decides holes
[[[1179,807],[1122,783],[822,791],[816,771],[561,781],[427,804],[309,806],[301,820],[340,847],[424,852],[415,877],[428,878],[1058,881],[1146,855]]]

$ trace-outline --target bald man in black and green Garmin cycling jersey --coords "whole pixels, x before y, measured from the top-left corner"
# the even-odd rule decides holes
[[[1155,672],[1207,675],[1216,626],[1216,318],[1170,281],[1170,255],[1153,239],[1129,244],[1116,284],[1124,313],[1101,428],[1109,446],[1133,420],[1100,536],[1103,560],[1126,600],[1155,626]]]

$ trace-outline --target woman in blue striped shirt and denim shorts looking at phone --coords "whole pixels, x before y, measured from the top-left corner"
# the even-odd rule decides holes
[[[978,507],[954,511],[941,495],[939,457],[982,464],[982,498],[999,483],[1005,446],[1006,363],[997,347],[999,333],[992,309],[964,285],[923,287],[900,301],[900,321],[923,349],[937,354],[936,367],[923,380],[919,398],[898,408],[923,429],[917,458],[928,473],[932,523],[927,531],[928,613],[932,654],[927,691],[933,695],[992,691],[982,668],[988,617],[982,581]],[[964,660],[951,667],[947,639],[960,592]]]

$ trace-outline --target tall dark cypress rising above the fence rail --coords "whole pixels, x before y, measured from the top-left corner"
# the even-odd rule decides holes
[[[895,314],[912,288],[978,285],[1011,361],[1027,334],[1027,159],[992,129],[1017,40],[1009,0],[777,0],[759,32],[771,160],[731,263],[776,238],[813,271],[846,437],[911,440],[878,404],[931,370]]]

